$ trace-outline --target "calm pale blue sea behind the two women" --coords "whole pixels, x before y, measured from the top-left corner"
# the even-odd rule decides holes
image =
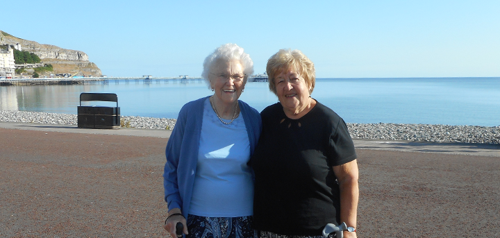
[[[167,118],[212,94],[203,80],[9,86],[0,87],[0,110],[76,114],[81,92],[116,93],[122,115]],[[349,123],[500,126],[500,78],[320,78],[312,96]],[[247,83],[240,99],[259,111],[278,101],[267,83]]]

